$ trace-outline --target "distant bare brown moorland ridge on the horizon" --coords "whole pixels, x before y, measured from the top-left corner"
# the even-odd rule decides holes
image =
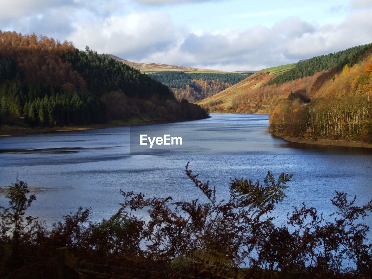
[[[203,72],[203,73],[228,73],[224,71],[218,70],[210,70],[210,69],[202,69],[202,68],[193,68],[193,67],[184,67],[184,66],[175,66],[175,65],[167,65],[167,64],[160,64],[160,63],[137,63],[131,62],[115,55],[109,54],[110,58],[113,58],[117,61],[121,61],[133,68],[140,70],[142,73],[148,72],[161,72],[161,71],[182,71],[182,72]]]

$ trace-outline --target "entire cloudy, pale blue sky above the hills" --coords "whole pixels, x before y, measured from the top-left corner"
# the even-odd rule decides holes
[[[0,30],[79,49],[224,71],[372,42],[372,0],[0,0]]]

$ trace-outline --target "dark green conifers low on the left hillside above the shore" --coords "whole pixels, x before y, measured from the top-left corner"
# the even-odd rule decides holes
[[[69,92],[61,86],[36,86],[6,80],[0,87],[1,120],[30,126],[63,126],[104,123],[106,106],[91,93]]]

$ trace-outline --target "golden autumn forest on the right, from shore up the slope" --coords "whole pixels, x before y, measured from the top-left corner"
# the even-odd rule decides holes
[[[294,92],[280,100],[270,115],[275,134],[304,138],[372,142],[372,58],[341,74],[323,86],[311,102]]]

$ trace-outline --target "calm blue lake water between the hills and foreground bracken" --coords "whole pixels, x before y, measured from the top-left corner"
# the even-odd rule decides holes
[[[273,138],[267,115],[212,114],[212,118],[174,124],[108,128],[0,138],[0,186],[20,180],[36,193],[29,214],[51,224],[78,206],[92,207],[92,219],[114,214],[122,202],[119,190],[146,196],[172,196],[174,201],[201,196],[185,176],[185,164],[227,195],[229,177],[262,181],[294,173],[288,198],[275,214],[283,222],[291,205],[305,201],[328,215],[334,211],[334,191],[357,195],[362,204],[372,198],[372,150],[301,145]],[[138,130],[139,129],[139,130]],[[131,149],[138,131],[185,135],[172,152],[146,153]],[[213,148],[210,147],[213,145]],[[132,152],[131,152],[132,151]],[[0,204],[6,199],[0,193]],[[371,218],[366,220],[371,225]]]

